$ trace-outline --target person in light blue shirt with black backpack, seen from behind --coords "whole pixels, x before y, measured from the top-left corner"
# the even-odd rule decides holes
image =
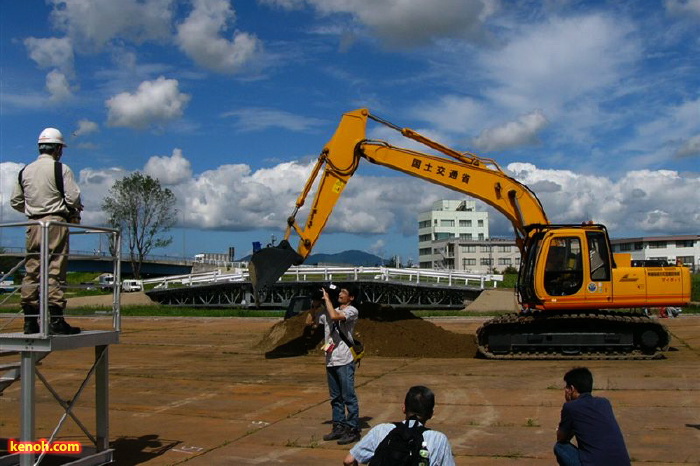
[[[454,466],[447,436],[425,427],[433,417],[435,394],[416,385],[406,393],[403,422],[374,426],[347,454],[345,466]]]

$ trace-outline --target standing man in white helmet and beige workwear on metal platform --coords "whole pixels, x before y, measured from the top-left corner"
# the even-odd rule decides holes
[[[61,132],[46,128],[39,135],[39,157],[24,167],[17,177],[10,203],[12,208],[23,212],[30,220],[42,222],[75,222],[76,214],[82,210],[80,189],[73,171],[59,162],[66,143]],[[79,217],[78,217],[79,218]],[[48,230],[49,270],[48,305],[51,314],[49,333],[73,335],[80,328],[70,326],[63,319],[66,300],[63,288],[68,270],[68,228],[53,225]],[[22,280],[22,311],[24,333],[39,332],[39,267],[41,226],[27,227],[26,275]]]

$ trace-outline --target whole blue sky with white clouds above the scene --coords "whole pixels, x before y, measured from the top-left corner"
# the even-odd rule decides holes
[[[700,0],[3,1],[1,220],[21,219],[9,194],[53,126],[85,223],[139,170],[178,198],[155,253],[240,257],[282,236],[342,113],[367,107],[495,159],[553,222],[697,234],[698,31]],[[415,261],[418,213],[447,198],[463,197],[367,163],[314,252]]]

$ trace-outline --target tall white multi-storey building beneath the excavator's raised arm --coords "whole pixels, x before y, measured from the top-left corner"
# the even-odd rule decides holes
[[[447,268],[439,265],[443,258],[435,252],[436,241],[488,238],[489,214],[477,212],[476,201],[437,201],[432,210],[418,215],[418,261],[422,268]]]

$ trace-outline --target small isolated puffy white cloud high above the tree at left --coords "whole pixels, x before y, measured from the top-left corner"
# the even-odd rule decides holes
[[[134,94],[123,92],[107,100],[107,124],[142,129],[174,120],[183,115],[189,100],[188,94],[180,92],[176,79],[161,76],[142,82]]]

